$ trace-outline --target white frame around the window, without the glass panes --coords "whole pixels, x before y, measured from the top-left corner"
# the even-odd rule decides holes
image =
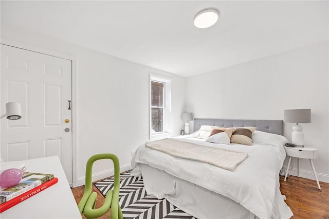
[[[164,92],[165,93],[164,109],[165,109],[165,112],[163,113],[163,132],[152,133],[152,131],[151,131],[152,130],[152,81],[164,84],[164,90],[165,90],[165,92]],[[150,140],[166,138],[166,137],[169,137],[172,135],[171,81],[172,81],[172,78],[168,78],[165,76],[150,73],[150,80],[149,80]]]

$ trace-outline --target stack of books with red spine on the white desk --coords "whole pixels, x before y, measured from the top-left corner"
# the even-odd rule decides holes
[[[19,184],[0,190],[0,213],[56,182],[58,182],[58,178],[53,177],[53,174],[25,172]]]

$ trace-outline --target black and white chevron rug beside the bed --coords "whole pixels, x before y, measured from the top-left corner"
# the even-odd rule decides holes
[[[107,178],[94,184],[106,196],[109,189],[113,188],[114,178]],[[149,196],[144,188],[141,176],[132,176],[131,171],[120,174],[119,204],[123,217],[129,218],[189,218],[196,219],[190,214],[176,208],[167,199],[157,199]]]

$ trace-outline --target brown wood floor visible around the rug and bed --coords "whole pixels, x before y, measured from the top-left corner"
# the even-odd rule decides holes
[[[285,182],[281,176],[280,184],[281,193],[287,198],[285,202],[294,213],[293,219],[329,219],[329,184],[320,182],[321,190],[319,190],[315,180],[296,176],[290,176]],[[103,205],[105,198],[95,186],[93,190],[98,192],[96,203],[98,208]],[[72,189],[77,204],[80,202],[83,191],[84,186]],[[109,212],[100,218],[109,218]]]

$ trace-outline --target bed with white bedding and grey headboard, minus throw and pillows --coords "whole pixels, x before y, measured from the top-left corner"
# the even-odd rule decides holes
[[[194,138],[203,125],[257,127],[252,145],[214,144]],[[132,158],[133,175],[142,174],[149,195],[197,218],[290,218],[293,213],[280,192],[279,172],[287,139],[282,120],[194,119],[194,133],[175,140],[246,153],[234,171],[184,159],[141,145]]]

